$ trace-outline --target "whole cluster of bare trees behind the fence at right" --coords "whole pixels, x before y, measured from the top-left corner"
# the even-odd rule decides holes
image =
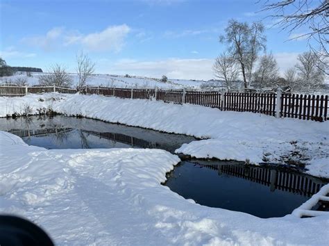
[[[325,79],[325,65],[312,51],[299,54],[294,67],[280,76],[276,58],[267,52],[262,22],[248,24],[231,19],[219,42],[226,50],[214,62],[214,76],[228,90],[287,86],[294,91],[318,90]]]

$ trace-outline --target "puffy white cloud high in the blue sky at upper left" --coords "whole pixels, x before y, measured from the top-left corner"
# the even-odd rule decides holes
[[[90,51],[118,52],[124,47],[124,40],[129,32],[130,27],[126,24],[108,26],[103,31],[87,34],[82,34],[79,31],[67,31],[62,27],[55,27],[45,35],[24,38],[22,41],[48,51],[58,46],[80,44],[84,49]]]

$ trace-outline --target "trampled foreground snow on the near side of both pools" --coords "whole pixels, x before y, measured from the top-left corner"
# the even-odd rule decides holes
[[[180,197],[160,184],[179,161],[163,150],[47,150],[3,131],[0,149],[0,212],[39,224],[56,245],[326,245],[329,240],[326,214],[261,219]]]

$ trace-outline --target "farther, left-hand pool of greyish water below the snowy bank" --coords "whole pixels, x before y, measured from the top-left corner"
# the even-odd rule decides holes
[[[47,149],[157,148],[174,153],[193,137],[75,117],[0,119],[0,129]]]

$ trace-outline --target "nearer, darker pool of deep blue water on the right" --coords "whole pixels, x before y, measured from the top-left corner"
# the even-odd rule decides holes
[[[201,205],[271,218],[292,213],[326,183],[284,167],[193,160],[167,174],[165,185]]]

